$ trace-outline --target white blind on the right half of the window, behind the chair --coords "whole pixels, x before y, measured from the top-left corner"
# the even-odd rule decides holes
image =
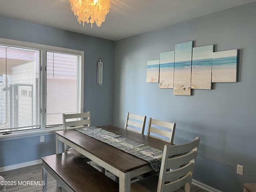
[[[62,125],[63,113],[81,112],[81,56],[46,51],[46,127]]]

